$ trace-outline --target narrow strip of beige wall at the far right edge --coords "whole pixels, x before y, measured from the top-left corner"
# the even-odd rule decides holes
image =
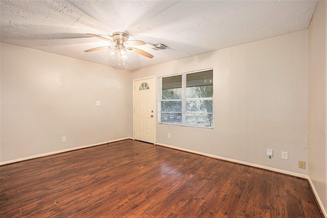
[[[309,27],[309,176],[327,214],[327,3],[319,1]]]

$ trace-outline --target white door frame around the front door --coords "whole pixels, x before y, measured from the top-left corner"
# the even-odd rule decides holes
[[[132,133],[132,135],[133,135],[133,140],[135,140],[135,134],[134,134],[134,129],[135,129],[135,91],[136,91],[136,89],[135,89],[135,83],[137,82],[137,81],[140,81],[140,80],[145,80],[145,79],[154,79],[154,100],[153,100],[153,115],[154,115],[154,122],[153,122],[153,144],[155,144],[156,143],[156,123],[157,123],[157,116],[158,116],[158,114],[157,114],[157,107],[156,107],[156,105],[157,105],[157,88],[156,88],[156,84],[157,84],[157,78],[156,78],[156,76],[148,76],[148,77],[143,77],[143,78],[137,78],[137,79],[133,79],[133,129],[132,129],[132,131],[133,131],[133,133]],[[151,88],[152,89],[152,88]]]

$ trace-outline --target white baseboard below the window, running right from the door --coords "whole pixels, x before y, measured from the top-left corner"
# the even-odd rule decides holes
[[[230,159],[230,158],[224,158],[224,157],[220,157],[220,156],[216,156],[216,155],[211,155],[211,154],[206,154],[206,153],[202,153],[202,152],[194,151],[194,150],[190,150],[190,149],[175,147],[175,146],[161,144],[161,143],[156,143],[156,145],[170,147],[170,148],[174,148],[174,149],[177,149],[177,150],[183,150],[183,151],[191,152],[193,154],[203,155],[203,156],[206,156],[206,157],[211,157],[211,158],[221,159],[221,160],[230,161],[230,162],[234,162],[234,163],[244,164],[244,165],[248,165],[248,166],[258,167],[258,168],[261,168],[261,169],[267,169],[267,170],[270,170],[270,171],[284,173],[284,174],[287,174],[287,175],[291,175],[291,176],[299,177],[299,178],[303,178],[303,179],[308,179],[309,178],[307,175],[303,175],[303,174],[296,173],[296,172],[290,172],[290,171],[286,171],[286,170],[282,170],[282,169],[276,169],[276,168],[272,168],[272,167],[268,167],[268,166],[263,166],[263,165],[259,165],[259,164],[248,163],[248,162],[234,160],[234,159]]]

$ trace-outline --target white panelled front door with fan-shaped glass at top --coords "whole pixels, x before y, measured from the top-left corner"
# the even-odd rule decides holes
[[[154,143],[155,77],[134,80],[134,139]]]

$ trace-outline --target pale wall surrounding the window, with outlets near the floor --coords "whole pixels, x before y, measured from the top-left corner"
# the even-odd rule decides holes
[[[308,161],[308,31],[158,64],[132,77],[208,68],[214,69],[214,129],[157,124],[156,142],[308,175],[298,168],[299,160]]]

